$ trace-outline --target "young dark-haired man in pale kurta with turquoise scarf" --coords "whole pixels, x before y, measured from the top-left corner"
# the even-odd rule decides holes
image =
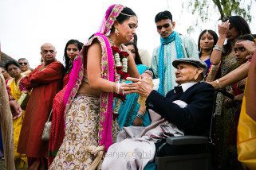
[[[174,31],[175,21],[169,11],[156,14],[155,23],[161,44],[153,51],[151,68],[155,78],[160,78],[158,91],[164,96],[175,87],[175,68],[171,67],[171,62],[179,58],[197,59],[199,53],[193,39]]]

